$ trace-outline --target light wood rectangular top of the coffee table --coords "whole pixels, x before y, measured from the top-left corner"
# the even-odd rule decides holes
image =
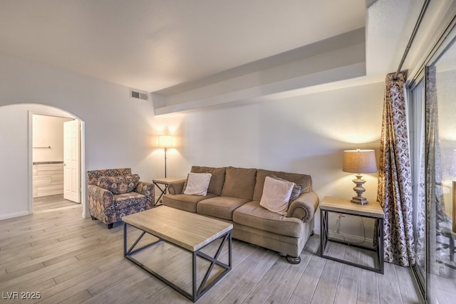
[[[199,250],[233,229],[230,223],[168,206],[123,216],[122,220],[190,251]]]

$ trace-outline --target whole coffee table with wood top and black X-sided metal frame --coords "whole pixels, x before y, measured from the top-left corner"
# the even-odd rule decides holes
[[[213,285],[220,281],[232,268],[232,239],[231,231],[233,225],[217,219],[211,219],[199,214],[193,214],[187,211],[174,209],[168,206],[158,206],[153,209],[138,212],[123,216],[123,255],[128,260],[132,261],[140,268],[158,278],[163,283],[166,283],[177,292],[185,295],[193,302],[196,302],[204,293],[206,293]],[[128,248],[127,226],[133,226],[140,229],[142,232],[138,239]],[[151,234],[158,238],[158,241],[147,243],[145,246],[135,248],[145,234]],[[202,248],[209,245],[218,239],[222,239],[219,248],[214,256],[209,256],[202,252]],[[152,245],[165,241],[178,246],[185,251],[192,253],[192,293],[188,293],[175,283],[168,281],[166,278],[158,274],[156,271],[145,266],[140,261],[133,258],[135,253]],[[222,252],[225,243],[228,242],[228,263],[219,261],[219,254]],[[151,251],[151,253],[153,253]],[[204,275],[199,286],[197,286],[197,257],[203,258],[210,262],[207,272]],[[214,278],[210,279],[214,266],[220,266],[223,271],[218,273]]]

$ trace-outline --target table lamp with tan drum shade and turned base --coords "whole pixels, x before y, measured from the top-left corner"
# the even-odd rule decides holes
[[[352,203],[356,204],[367,204],[368,201],[363,197],[363,192],[366,189],[363,188],[363,184],[366,182],[362,173],[375,173],[377,172],[377,162],[375,162],[375,151],[374,150],[346,150],[343,151],[343,172],[356,173],[356,179],[353,182],[356,187],[353,190],[357,196],[353,196]]]

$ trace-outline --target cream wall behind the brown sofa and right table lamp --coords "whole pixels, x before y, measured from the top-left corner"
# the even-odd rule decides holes
[[[342,172],[342,152],[375,149],[378,157],[383,90],[383,83],[374,83],[169,117],[180,142],[168,153],[169,175],[185,177],[193,164],[297,172],[311,174],[321,199],[351,199],[355,177]],[[364,177],[370,201],[377,196],[377,176]],[[342,219],[341,230],[362,236],[362,224]]]

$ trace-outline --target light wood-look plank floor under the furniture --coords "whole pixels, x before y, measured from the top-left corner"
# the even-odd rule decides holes
[[[1,303],[191,303],[123,258],[121,224],[108,230],[82,219],[80,204],[50,201],[51,209],[41,199],[33,215],[0,221]],[[314,235],[301,263],[291,265],[278,253],[234,240],[232,271],[198,303],[423,303],[409,268],[385,263],[380,275],[320,258],[318,246]],[[351,250],[338,254],[353,256]],[[187,276],[178,267],[172,271],[179,254],[165,247],[153,252],[170,276]],[[14,292],[19,299],[7,299]],[[21,299],[21,292],[39,292],[41,299]]]

